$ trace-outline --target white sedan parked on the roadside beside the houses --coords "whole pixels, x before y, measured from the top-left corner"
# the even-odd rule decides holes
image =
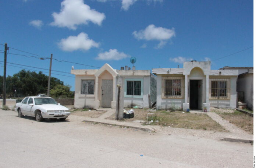
[[[30,96],[25,97],[21,102],[16,103],[15,111],[19,117],[32,116],[36,121],[43,119],[65,120],[70,112],[68,108],[60,105],[51,97]]]

